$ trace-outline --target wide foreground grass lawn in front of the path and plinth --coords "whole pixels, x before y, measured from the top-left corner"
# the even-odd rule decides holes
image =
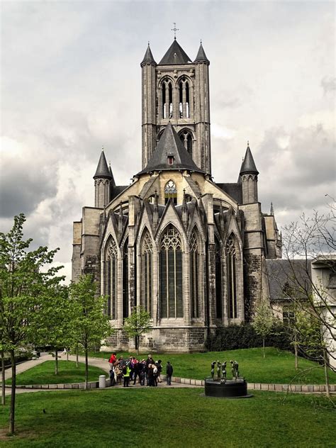
[[[335,411],[324,397],[259,391],[245,400],[220,400],[201,393],[129,388],[19,394],[17,435],[8,439],[3,430],[0,446],[335,448]],[[6,405],[0,427],[8,418]]]

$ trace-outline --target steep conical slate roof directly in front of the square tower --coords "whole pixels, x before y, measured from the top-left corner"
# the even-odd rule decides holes
[[[168,163],[168,155],[174,157],[172,165]],[[197,167],[194,160],[191,158],[191,155],[179,139],[179,135],[177,135],[170,121],[164,129],[164,133],[159,139],[157,147],[155,148],[150,161],[147,163],[147,167],[142,169],[138,174],[160,171],[162,169],[188,169],[189,171],[204,173]]]

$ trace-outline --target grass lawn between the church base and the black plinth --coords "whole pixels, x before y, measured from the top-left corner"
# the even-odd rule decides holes
[[[147,358],[149,352],[141,354]],[[129,357],[134,353],[118,353]],[[108,359],[111,353],[91,352],[90,356]],[[325,382],[323,366],[300,358],[298,371],[294,367],[294,355],[274,347],[267,347],[266,358],[262,357],[262,349],[238,349],[227,352],[206,352],[193,354],[153,354],[155,360],[162,359],[162,365],[170,361],[174,367],[174,376],[182,378],[204,379],[210,376],[211,362],[219,359],[228,361],[228,378],[231,377],[230,359],[239,363],[240,375],[245,376],[250,383],[290,383],[294,384],[323,384]],[[306,373],[304,370],[315,367]],[[165,373],[165,371],[163,371]],[[299,373],[299,375],[298,375]],[[302,373],[302,374],[301,374]],[[336,373],[330,371],[330,383],[336,383]]]

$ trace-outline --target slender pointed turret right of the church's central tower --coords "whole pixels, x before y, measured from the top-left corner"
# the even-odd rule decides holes
[[[249,142],[240,168],[240,181],[242,182],[242,203],[258,202],[258,170],[255,166]]]

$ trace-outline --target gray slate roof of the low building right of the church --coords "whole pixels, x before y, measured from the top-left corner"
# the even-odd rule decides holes
[[[286,301],[289,296],[307,298],[311,291],[309,260],[267,259],[266,266],[271,301]]]

